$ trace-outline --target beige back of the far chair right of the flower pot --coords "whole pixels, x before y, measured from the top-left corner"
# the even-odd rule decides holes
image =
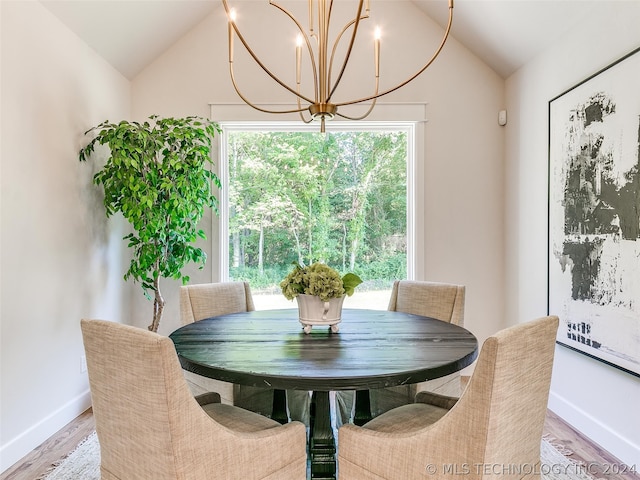
[[[464,294],[464,285],[396,280],[388,310],[413,313],[462,326]]]

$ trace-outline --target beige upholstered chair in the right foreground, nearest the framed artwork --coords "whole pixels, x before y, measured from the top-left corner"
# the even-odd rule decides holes
[[[557,328],[558,317],[543,317],[488,338],[457,401],[421,392],[363,427],[342,426],[340,480],[446,480],[465,465],[466,480],[540,478]]]

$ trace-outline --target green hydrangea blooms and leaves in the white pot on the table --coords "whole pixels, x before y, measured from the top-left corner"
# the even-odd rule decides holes
[[[282,294],[293,300],[300,294],[315,295],[323,302],[343,295],[351,296],[362,280],[355,273],[347,273],[343,277],[337,270],[328,265],[316,262],[308,267],[294,263],[295,267],[280,282]]]

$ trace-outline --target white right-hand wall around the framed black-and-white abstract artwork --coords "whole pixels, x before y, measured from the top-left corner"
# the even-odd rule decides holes
[[[640,46],[640,3],[594,5],[506,82],[506,313],[514,323],[546,314],[548,102]],[[553,411],[640,465],[640,379],[558,346],[551,389]]]

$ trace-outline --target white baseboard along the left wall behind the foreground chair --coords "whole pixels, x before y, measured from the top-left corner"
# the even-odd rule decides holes
[[[91,393],[87,389],[17,437],[1,445],[0,472],[8,470],[90,406]]]

